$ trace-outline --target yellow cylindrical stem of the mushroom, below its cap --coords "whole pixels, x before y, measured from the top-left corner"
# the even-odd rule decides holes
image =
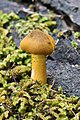
[[[32,54],[32,73],[31,78],[38,80],[42,84],[46,83],[46,56]]]

